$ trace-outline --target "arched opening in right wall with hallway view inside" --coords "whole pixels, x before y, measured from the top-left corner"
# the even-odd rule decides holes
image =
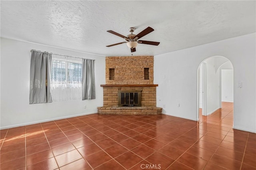
[[[222,56],[204,59],[197,71],[197,119],[233,127],[233,65]]]

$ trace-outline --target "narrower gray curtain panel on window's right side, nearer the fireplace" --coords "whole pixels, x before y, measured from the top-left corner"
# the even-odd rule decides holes
[[[82,59],[82,100],[96,99],[94,60]]]

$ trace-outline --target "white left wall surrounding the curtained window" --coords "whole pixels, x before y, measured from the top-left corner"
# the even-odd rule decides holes
[[[96,99],[29,105],[31,49],[95,59]],[[105,84],[105,57],[1,38],[0,128],[97,113],[97,107],[103,105],[100,84]]]

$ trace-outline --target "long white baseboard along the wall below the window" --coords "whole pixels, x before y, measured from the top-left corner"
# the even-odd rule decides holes
[[[5,126],[5,127],[0,127],[0,130],[2,129],[6,129],[6,128],[14,128],[14,127],[22,127],[22,126],[26,126],[26,125],[33,125],[33,124],[37,124],[37,123],[44,123],[44,122],[49,122],[49,121],[56,121],[56,120],[60,120],[60,119],[67,119],[70,117],[78,117],[78,116],[83,116],[83,115],[91,115],[94,113],[98,113],[98,112],[92,112],[92,113],[82,113],[82,114],[78,114],[78,115],[72,115],[72,116],[65,116],[65,117],[56,117],[56,118],[52,118],[52,119],[45,119],[42,121],[35,121],[35,122],[29,122],[29,123],[21,123],[21,124],[17,124],[17,125],[10,125],[10,126]]]

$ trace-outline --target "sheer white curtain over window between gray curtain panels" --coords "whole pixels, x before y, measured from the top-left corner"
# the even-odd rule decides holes
[[[52,101],[82,99],[82,59],[52,54]]]

